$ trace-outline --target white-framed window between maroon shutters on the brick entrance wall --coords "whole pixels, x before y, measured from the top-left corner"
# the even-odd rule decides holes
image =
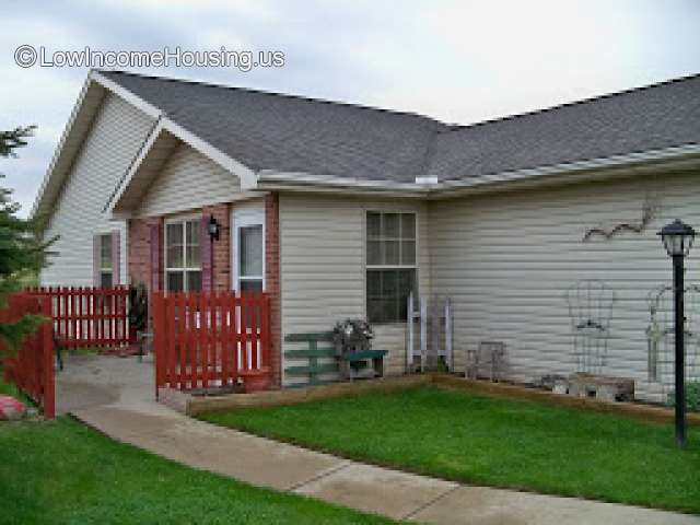
[[[165,223],[165,290],[198,292],[201,290],[200,219]]]

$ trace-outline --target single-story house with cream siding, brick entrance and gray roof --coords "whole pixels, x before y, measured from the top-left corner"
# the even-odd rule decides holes
[[[699,170],[700,75],[458,126],[93,70],[33,213],[59,235],[42,284],[266,291],[277,384],[287,334],[345,317],[369,317],[402,373],[410,291],[451,298],[458,370],[498,340],[515,381],[567,374],[565,292],[600,279],[617,298],[605,373],[653,397],[656,232],[700,226]],[[637,228],[607,234],[619,224]]]

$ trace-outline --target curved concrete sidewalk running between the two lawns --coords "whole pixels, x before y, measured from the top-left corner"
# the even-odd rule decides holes
[[[153,400],[152,368],[85,358],[59,375],[59,409],[105,434],[252,485],[398,520],[435,524],[696,524],[634,506],[470,487],[342,459],[189,419]],[[94,390],[94,392],[93,392]],[[86,393],[104,390],[94,397]]]

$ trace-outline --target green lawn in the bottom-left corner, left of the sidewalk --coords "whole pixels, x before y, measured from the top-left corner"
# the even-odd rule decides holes
[[[254,488],[117,443],[73,421],[0,423],[3,524],[388,524]]]

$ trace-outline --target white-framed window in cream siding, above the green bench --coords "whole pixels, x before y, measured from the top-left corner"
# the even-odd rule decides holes
[[[370,323],[406,320],[416,288],[416,213],[366,213],[366,312]]]

